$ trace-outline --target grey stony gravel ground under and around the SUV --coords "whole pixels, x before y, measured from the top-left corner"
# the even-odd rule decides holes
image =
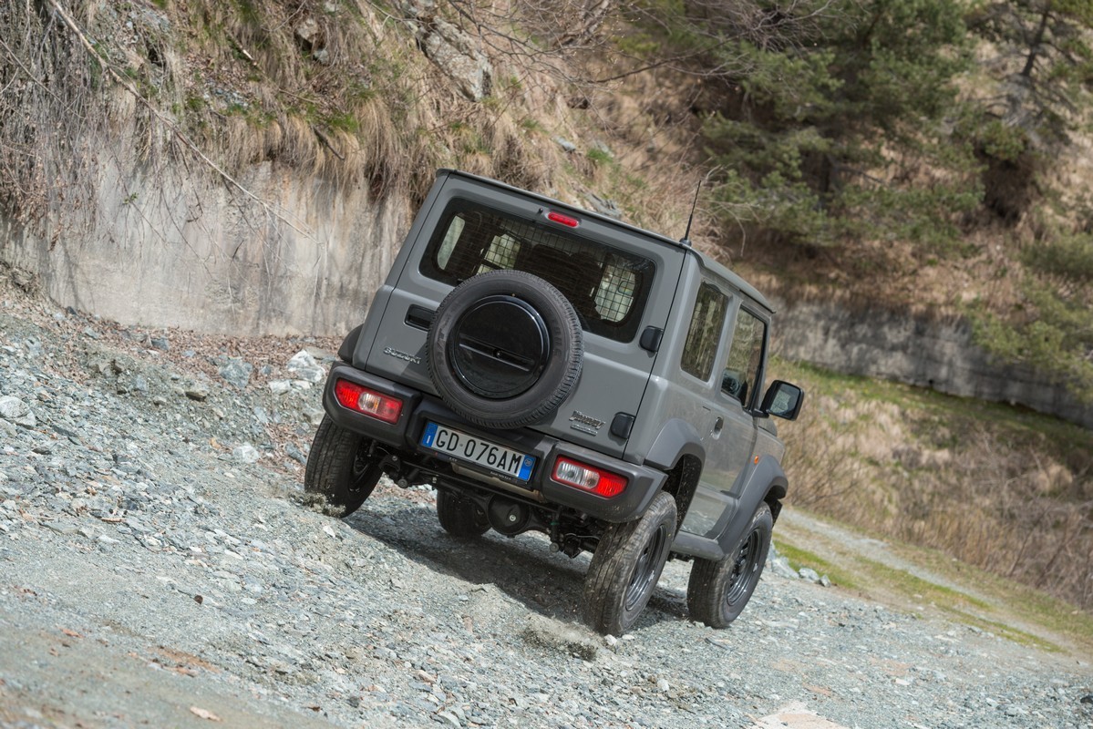
[[[331,345],[0,284],[0,726],[1093,727],[1088,657],[769,569],[713,631],[679,562],[604,638],[577,622],[587,556],[455,541],[390,483],[309,508],[319,387],[289,362]]]

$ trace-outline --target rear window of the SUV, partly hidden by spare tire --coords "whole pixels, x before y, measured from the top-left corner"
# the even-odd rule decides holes
[[[655,272],[647,258],[545,220],[453,201],[430,240],[421,272],[457,285],[500,269],[545,279],[569,299],[586,331],[618,341],[630,341],[637,332]]]

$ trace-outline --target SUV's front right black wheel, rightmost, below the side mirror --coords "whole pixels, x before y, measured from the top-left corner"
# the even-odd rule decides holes
[[[720,562],[695,558],[686,588],[691,618],[710,627],[728,627],[751,599],[771,551],[774,518],[760,504],[732,554]]]

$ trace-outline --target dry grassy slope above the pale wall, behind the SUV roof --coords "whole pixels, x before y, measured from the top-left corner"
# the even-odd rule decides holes
[[[450,166],[577,204],[588,205],[589,193],[613,199],[628,221],[655,230],[681,234],[685,224],[694,175],[682,169],[682,157],[694,151],[687,146],[694,129],[667,119],[686,118],[686,94],[661,90],[657,104],[640,101],[663,80],[635,77],[627,90],[574,87],[573,79],[596,69],[578,69],[568,51],[538,57],[530,46],[513,46],[498,35],[510,32],[507,26],[478,27],[469,30],[480,32],[482,48],[492,52],[493,85],[489,97],[471,103],[422,54],[398,11],[371,2],[158,0],[136,11],[121,0],[66,4],[86,23],[97,52],[155,110],[96,74],[69,30],[47,31],[22,3],[0,13],[3,35],[26,40],[16,55],[34,61],[33,74],[8,86],[25,93],[7,94],[0,104],[0,128],[11,142],[2,148],[0,193],[16,215],[40,217],[50,205],[70,213],[60,199],[73,200],[73,191],[52,190],[50,181],[94,180],[73,172],[77,162],[93,163],[66,153],[107,125],[108,136],[125,139],[120,146],[136,150],[150,175],[181,155],[187,174],[219,174],[193,164],[157,117],[164,115],[236,178],[271,163],[337,190],[363,188],[373,200],[413,204],[424,198],[433,171]],[[44,34],[49,43],[35,40]],[[40,50],[50,47],[66,52]],[[35,83],[30,75],[55,81]],[[19,115],[26,124],[12,124]],[[46,124],[56,117],[67,125]],[[655,143],[645,139],[648,130]],[[578,150],[565,153],[556,137]],[[592,160],[588,152],[599,142],[619,156]],[[27,166],[26,156],[40,164]],[[94,190],[80,193],[93,197]],[[697,230],[716,233],[702,215]]]

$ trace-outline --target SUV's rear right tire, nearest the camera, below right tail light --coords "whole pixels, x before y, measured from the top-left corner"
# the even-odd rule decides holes
[[[675,538],[675,502],[660,492],[639,519],[610,525],[585,576],[585,621],[596,631],[626,633],[645,610]]]

